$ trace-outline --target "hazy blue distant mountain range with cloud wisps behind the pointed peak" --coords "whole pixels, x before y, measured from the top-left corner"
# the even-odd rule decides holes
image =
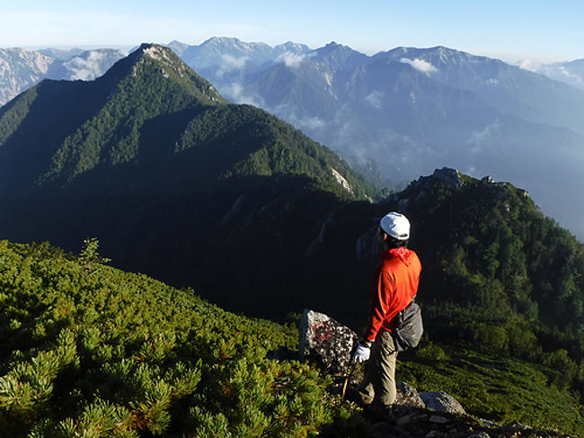
[[[584,189],[584,91],[574,86],[443,47],[371,57],[334,42],[312,50],[211,38],[169,47],[227,99],[288,121],[377,184],[403,187],[444,165],[491,174],[525,187],[546,214],[584,238],[584,206],[571,202]],[[53,61],[45,76],[89,79],[119,55],[72,54]],[[540,71],[574,79],[578,66]],[[22,83],[39,80],[37,70]]]

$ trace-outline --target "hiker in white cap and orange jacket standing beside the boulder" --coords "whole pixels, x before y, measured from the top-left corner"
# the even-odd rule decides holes
[[[383,245],[371,293],[371,310],[363,340],[353,354],[353,362],[367,362],[365,379],[358,395],[372,415],[392,420],[395,401],[395,360],[397,350],[392,328],[399,312],[418,292],[421,264],[407,248],[410,221],[391,211],[379,220],[379,240]]]

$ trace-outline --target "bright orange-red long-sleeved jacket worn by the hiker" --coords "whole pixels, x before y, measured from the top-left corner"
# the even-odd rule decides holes
[[[365,339],[374,341],[380,328],[392,331],[394,317],[418,293],[421,264],[418,255],[407,248],[392,248],[381,255],[371,291],[371,311]]]

